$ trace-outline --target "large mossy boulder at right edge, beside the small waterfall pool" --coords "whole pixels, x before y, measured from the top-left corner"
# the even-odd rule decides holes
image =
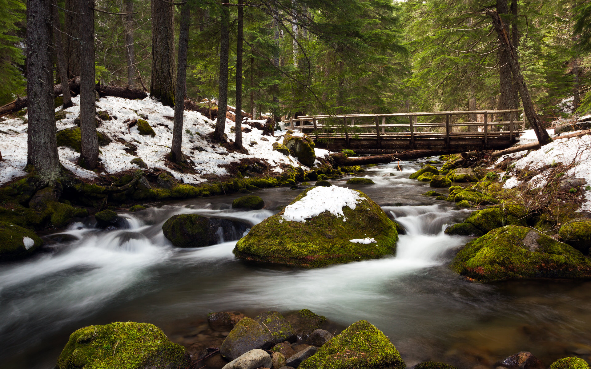
[[[467,243],[452,268],[480,282],[591,276],[591,262],[579,250],[519,226],[496,228]]]

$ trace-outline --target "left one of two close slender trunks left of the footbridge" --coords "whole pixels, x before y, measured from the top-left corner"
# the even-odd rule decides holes
[[[230,48],[230,11],[228,6],[221,6],[219,96],[217,97],[216,130],[213,133],[213,138],[218,141],[224,141],[223,135],[226,130],[226,109],[228,109],[228,54]]]

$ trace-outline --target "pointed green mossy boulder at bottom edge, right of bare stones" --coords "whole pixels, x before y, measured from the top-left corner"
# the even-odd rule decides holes
[[[299,369],[404,369],[388,337],[368,321],[358,321],[326,342]]]

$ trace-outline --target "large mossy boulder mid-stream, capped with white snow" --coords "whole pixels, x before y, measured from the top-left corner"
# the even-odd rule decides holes
[[[397,240],[395,224],[363,192],[314,187],[252,227],[233,252],[247,260],[319,267],[394,254]]]

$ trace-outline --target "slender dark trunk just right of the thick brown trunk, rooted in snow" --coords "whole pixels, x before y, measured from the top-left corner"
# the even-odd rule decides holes
[[[157,1],[157,0],[152,0]],[[185,160],[181,151],[183,143],[184,86],[187,78],[187,49],[189,48],[189,4],[181,5],[181,24],[178,28],[177,90],[174,102],[173,145],[170,156],[173,161]]]

